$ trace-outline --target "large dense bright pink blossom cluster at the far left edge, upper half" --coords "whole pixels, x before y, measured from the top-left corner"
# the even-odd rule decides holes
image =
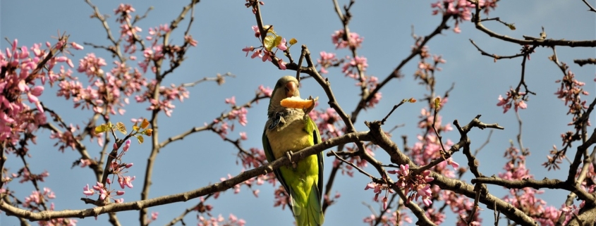
[[[0,67],[5,68],[4,74],[0,75],[0,142],[16,144],[20,134],[33,134],[39,125],[46,123],[44,108],[39,101],[44,91],[43,84],[48,80],[53,84],[65,73],[63,70],[54,73],[52,69],[56,64],[67,63],[73,67],[71,59],[59,56],[59,51],[82,48],[74,42],[67,44],[64,37],[60,37],[54,46],[49,42],[46,42],[46,46],[48,49],[45,50],[41,49],[42,44],[34,44],[31,49],[27,46],[19,48],[18,40],[15,39],[11,48],[0,52]],[[50,52],[53,55],[48,57]],[[47,73],[44,68],[47,68]],[[28,102],[37,111],[31,111],[30,106],[23,101],[23,96],[27,96]],[[26,139],[35,142],[35,136]]]

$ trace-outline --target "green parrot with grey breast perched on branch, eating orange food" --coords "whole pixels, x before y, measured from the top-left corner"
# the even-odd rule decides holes
[[[292,96],[300,97],[298,80],[289,75],[281,77],[273,89],[262,138],[269,163],[286,156],[288,151],[300,151],[321,142],[319,128],[308,116],[315,105],[308,109],[281,106],[281,100]],[[322,153],[308,156],[290,166],[282,166],[274,170],[274,173],[291,197],[290,207],[296,218],[296,225],[322,225]]]

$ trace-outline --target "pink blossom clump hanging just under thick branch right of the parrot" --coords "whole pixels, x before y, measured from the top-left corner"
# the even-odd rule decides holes
[[[429,170],[414,175],[410,172],[410,165],[399,165],[399,170],[390,170],[387,172],[397,175],[398,180],[396,185],[404,189],[403,193],[408,194],[408,200],[406,202],[418,201],[418,197],[422,197],[422,203],[430,206],[432,203],[430,199],[432,192],[430,191],[430,184],[428,182],[432,182],[434,178],[428,176],[430,175]]]

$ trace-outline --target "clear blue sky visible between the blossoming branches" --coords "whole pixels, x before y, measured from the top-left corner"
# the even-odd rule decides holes
[[[340,1],[346,4],[348,1]],[[589,1],[596,6],[596,1]],[[112,32],[118,34],[118,25],[113,14],[119,1],[96,1],[100,11],[109,14],[108,19]],[[142,28],[143,36],[147,35],[149,27],[156,27],[170,23],[187,1],[129,1],[139,14],[145,13],[150,6],[154,7],[149,16],[138,25]],[[430,4],[434,1],[357,1],[352,8],[353,18],[350,23],[352,32],[358,32],[364,37],[363,47],[358,54],[368,59],[368,75],[375,75],[381,80],[390,75],[396,65],[408,56],[413,39],[410,37],[410,26],[414,26],[418,35],[430,34],[440,22],[440,16],[432,16]],[[257,39],[253,37],[251,26],[255,25],[255,18],[250,9],[245,8],[244,1],[202,1],[195,8],[195,23],[190,34],[197,39],[198,46],[190,49],[186,61],[176,70],[174,75],[167,77],[164,84],[181,84],[193,82],[202,77],[214,77],[216,73],[230,72],[236,78],[227,78],[221,87],[214,83],[202,83],[190,87],[190,99],[183,103],[176,103],[176,109],[171,118],[160,115],[159,128],[160,140],[173,136],[210,122],[220,113],[229,111],[229,106],[224,99],[236,96],[237,103],[245,103],[254,95],[260,84],[272,87],[274,82],[282,75],[293,75],[291,71],[280,71],[271,63],[262,63],[260,60],[245,57],[241,49],[244,46],[258,46]],[[337,51],[331,42],[331,34],[342,28],[337,18],[332,1],[265,1],[262,7],[265,24],[274,25],[276,32],[284,37],[298,39],[298,44],[306,44],[313,56],[318,56],[320,51],[332,51],[338,57],[348,56],[346,50]],[[107,44],[106,34],[95,18],[90,18],[92,8],[85,1],[0,1],[0,49],[5,49],[9,43],[4,37],[12,40],[18,39],[19,44],[31,46],[34,43],[52,42],[51,37],[59,32],[66,32],[71,37],[69,41],[91,42],[94,44]],[[506,34],[511,37],[521,38],[522,35],[538,36],[540,27],[545,27],[548,37],[554,39],[594,39],[596,37],[595,13],[588,12],[587,7],[580,0],[574,1],[501,1],[491,17],[500,17],[508,23],[515,23],[517,30],[509,30],[499,23],[487,22],[489,29]],[[188,20],[184,20],[181,27],[186,27]],[[453,22],[450,23],[453,26]],[[447,63],[442,65],[443,70],[437,73],[437,93],[443,94],[446,89],[455,83],[451,92],[449,103],[442,111],[443,121],[452,122],[457,119],[460,123],[468,123],[475,115],[481,114],[485,123],[499,123],[506,129],[494,131],[490,143],[478,154],[480,171],[484,175],[497,175],[501,172],[506,160],[502,158],[504,150],[509,146],[509,140],[515,140],[518,132],[518,122],[512,111],[503,114],[502,109],[496,106],[497,97],[504,95],[510,87],[515,87],[521,73],[521,59],[501,60],[493,63],[492,58],[481,56],[470,44],[468,39],[473,39],[476,44],[489,53],[499,55],[516,54],[520,49],[517,44],[509,44],[497,39],[492,39],[486,34],[475,30],[467,22],[461,25],[461,34],[444,31],[443,34],[432,39],[427,45],[432,54],[440,54]],[[181,30],[171,38],[173,42],[181,43]],[[85,46],[83,51],[73,51],[73,59],[80,59],[89,52],[106,58],[112,66],[114,59],[105,51],[92,49]],[[293,56],[299,56],[299,48],[293,48]],[[578,80],[586,82],[585,90],[590,92],[588,101],[596,94],[593,80],[595,78],[594,65],[579,67],[573,64],[576,58],[594,58],[594,49],[587,48],[557,48],[560,61],[571,65],[571,70],[576,73]],[[531,61],[526,65],[526,82],[530,90],[537,96],[530,96],[528,109],[521,111],[523,119],[523,142],[532,155],[528,157],[528,168],[537,179],[543,177],[564,178],[564,170],[553,172],[542,168],[540,164],[546,161],[548,151],[553,144],[561,145],[559,135],[572,127],[566,124],[571,121],[571,116],[565,115],[564,103],[553,95],[559,84],[555,80],[561,78],[557,65],[548,60],[552,55],[551,49],[538,48],[532,55]],[[358,117],[355,126],[358,130],[366,130],[363,121],[380,120],[386,115],[394,104],[403,98],[414,96],[422,98],[427,91],[413,80],[418,61],[410,61],[403,69],[401,80],[391,81],[382,90],[383,99],[377,108],[364,111]],[[76,63],[75,63],[76,64]],[[339,104],[347,112],[353,111],[358,99],[358,87],[353,80],[346,78],[339,69],[332,69],[326,75],[332,82],[332,89],[336,94]],[[83,82],[85,78],[81,79]],[[55,97],[55,87],[46,89],[42,101],[58,109],[67,123],[83,123],[92,113],[72,108],[71,101]],[[327,97],[314,80],[305,80],[300,91],[303,95],[320,96],[320,106],[324,106]],[[249,140],[243,142],[243,147],[261,148],[260,136],[266,120],[266,104],[263,101],[249,109],[248,125],[236,125],[236,130],[231,138],[238,136],[238,132],[247,132]],[[401,135],[408,136],[408,144],[415,142],[415,136],[420,134],[416,128],[420,108],[424,103],[413,103],[399,108],[391,115],[386,129],[394,125],[405,124],[394,132],[395,142],[401,145]],[[325,106],[327,107],[327,106]],[[131,104],[125,115],[115,115],[112,120],[122,121],[130,127],[130,118],[150,117],[147,103]],[[472,148],[478,148],[487,137],[488,131],[473,130],[470,133]],[[60,153],[52,140],[48,139],[49,131],[39,133],[39,142],[30,146],[31,158],[28,160],[34,172],[48,170],[50,177],[43,187],[50,187],[56,193],[54,200],[57,210],[89,208],[79,199],[83,197],[82,187],[93,184],[94,177],[88,169],[73,168],[71,163],[79,158],[73,151]],[[445,139],[458,140],[457,132],[444,134]],[[186,192],[203,187],[209,183],[218,182],[220,177],[236,175],[241,171],[241,166],[236,165],[235,153],[237,150],[229,143],[219,142],[220,138],[212,132],[193,134],[188,139],[176,142],[164,148],[157,158],[154,168],[153,186],[150,197],[166,194]],[[95,143],[87,141],[90,153],[99,156],[101,150]],[[577,144],[575,145],[577,146]],[[94,151],[95,150],[95,151]],[[142,187],[142,175],[150,151],[150,144],[138,145],[133,142],[131,151],[126,155],[128,161],[135,163],[129,169],[130,175],[136,175],[135,187],[127,191],[124,196],[126,201],[139,199]],[[8,156],[6,168],[16,170],[22,163],[14,156]],[[389,163],[389,158],[377,151],[379,161]],[[461,165],[465,164],[465,157],[456,153],[454,159]],[[325,159],[331,165],[333,159]],[[325,176],[329,175],[330,167],[326,168]],[[374,170],[367,169],[368,172]],[[375,174],[373,174],[375,175]],[[465,178],[469,182],[470,177]],[[355,173],[354,177],[341,176],[336,179],[334,191],[341,193],[341,198],[336,205],[327,210],[326,225],[358,225],[362,219],[370,215],[367,206],[362,202],[372,204],[372,192],[364,191],[365,184],[370,182],[367,177]],[[31,184],[11,183],[13,190],[20,199],[28,196],[33,187]],[[233,213],[238,218],[243,218],[248,225],[263,225],[267,222],[279,222],[279,225],[291,225],[293,218],[288,209],[273,208],[273,189],[265,184],[260,189],[260,197],[255,198],[248,189],[243,189],[240,194],[225,192],[219,199],[208,203],[215,208],[214,215]],[[506,190],[499,187],[489,187],[489,191],[502,197]],[[333,192],[334,193],[334,192]],[[563,203],[566,193],[546,191],[541,196],[550,205],[557,208]],[[187,203],[174,203],[168,206],[157,206],[150,211],[159,212],[159,219],[154,222],[164,225],[185,208],[197,203],[197,199]],[[480,206],[482,218],[485,223],[492,222],[492,212],[485,206]],[[447,222],[454,222],[454,216],[448,215]],[[138,222],[138,212],[128,211],[118,213],[123,225],[133,225]],[[185,221],[195,225],[195,215],[187,215]],[[85,218],[79,220],[79,225],[105,225],[107,215],[99,216],[98,220]],[[503,223],[504,221],[501,221]],[[16,218],[0,215],[0,225],[18,225]],[[449,225],[449,224],[448,224]]]

